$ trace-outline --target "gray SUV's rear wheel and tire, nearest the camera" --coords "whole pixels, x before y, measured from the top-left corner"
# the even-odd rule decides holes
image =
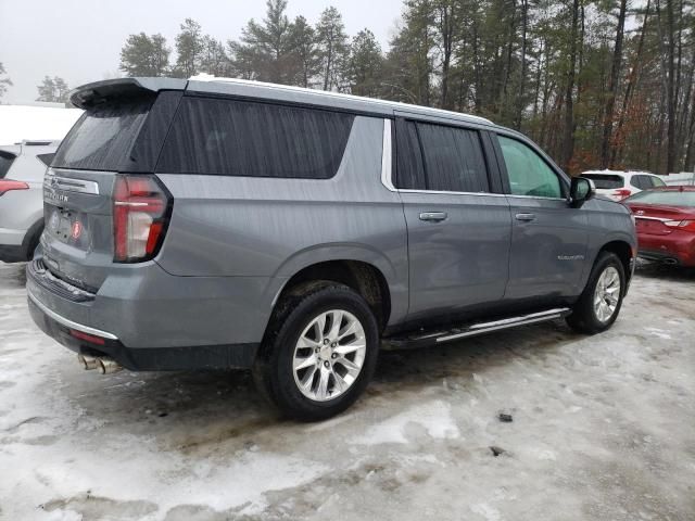
[[[285,296],[253,368],[256,386],[281,412],[318,421],[350,407],[377,364],[379,331],[365,300],[336,282]]]

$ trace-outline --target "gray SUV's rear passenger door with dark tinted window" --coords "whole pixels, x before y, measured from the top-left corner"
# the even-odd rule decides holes
[[[409,319],[453,318],[504,295],[511,225],[509,205],[494,193],[501,187],[489,176],[486,139],[475,128],[396,122],[395,183],[408,229]]]

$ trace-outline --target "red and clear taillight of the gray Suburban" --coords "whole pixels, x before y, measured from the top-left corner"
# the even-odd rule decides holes
[[[156,255],[172,198],[153,176],[116,176],[113,190],[113,237],[116,263],[137,263]]]

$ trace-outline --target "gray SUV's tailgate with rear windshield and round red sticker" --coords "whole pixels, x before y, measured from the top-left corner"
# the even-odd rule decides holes
[[[152,173],[180,92],[114,93],[88,106],[43,180],[43,263],[96,291],[114,266],[117,173]]]

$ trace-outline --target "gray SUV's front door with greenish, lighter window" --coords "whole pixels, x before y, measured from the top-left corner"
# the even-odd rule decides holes
[[[569,181],[525,140],[497,137],[508,182],[513,233],[506,300],[552,300],[581,292],[586,214],[567,202]]]

